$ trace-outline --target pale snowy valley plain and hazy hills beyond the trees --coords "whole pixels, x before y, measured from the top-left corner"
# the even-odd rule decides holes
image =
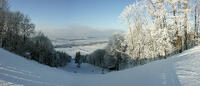
[[[72,25],[63,29],[41,29],[50,38],[57,51],[63,51],[75,57],[76,52],[82,55],[105,48],[115,33],[123,33],[117,29],[97,29],[88,26]],[[68,46],[68,47],[66,47]]]

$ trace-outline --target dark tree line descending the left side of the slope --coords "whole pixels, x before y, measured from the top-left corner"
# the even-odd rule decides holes
[[[0,0],[0,47],[51,67],[65,66],[71,56],[54,50],[51,41],[28,15],[12,12],[7,0]]]

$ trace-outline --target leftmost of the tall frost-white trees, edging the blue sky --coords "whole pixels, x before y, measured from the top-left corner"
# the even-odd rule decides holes
[[[146,29],[147,18],[145,17],[144,2],[136,1],[128,5],[120,14],[122,22],[129,27],[129,32],[125,38],[127,43],[127,53],[133,59],[142,58],[144,29]]]

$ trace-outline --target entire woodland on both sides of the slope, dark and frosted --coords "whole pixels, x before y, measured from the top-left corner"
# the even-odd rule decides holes
[[[124,8],[119,20],[127,32],[114,34],[105,49],[88,55],[77,52],[77,67],[90,63],[121,70],[166,59],[199,44],[199,0],[136,1]],[[7,0],[0,0],[0,46],[51,67],[65,66],[72,59],[35,31],[28,15],[10,11]]]

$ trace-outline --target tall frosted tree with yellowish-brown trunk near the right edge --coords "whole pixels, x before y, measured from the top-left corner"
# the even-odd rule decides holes
[[[176,45],[179,52],[188,48],[188,32],[191,28],[191,7],[189,0],[168,0],[168,22],[176,30]]]

